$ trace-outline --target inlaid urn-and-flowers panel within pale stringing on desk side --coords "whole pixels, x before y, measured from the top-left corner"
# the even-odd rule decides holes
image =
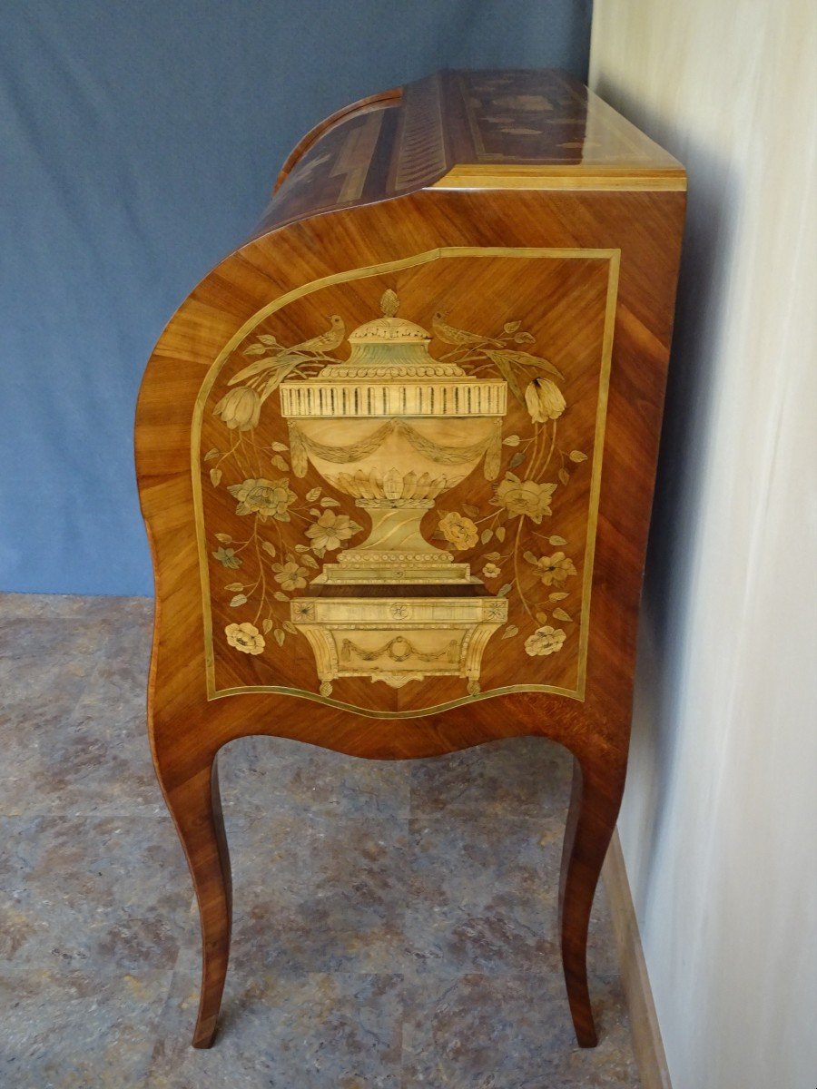
[[[584,697],[617,250],[439,249],[278,298],[210,368],[210,697]]]

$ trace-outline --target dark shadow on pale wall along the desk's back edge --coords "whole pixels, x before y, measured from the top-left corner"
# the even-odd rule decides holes
[[[649,853],[634,900],[644,904],[663,833],[659,798],[667,798],[678,713],[686,673],[688,611],[696,579],[700,495],[714,438],[717,401],[717,329],[741,208],[737,178],[709,148],[695,147],[660,123],[643,102],[610,81],[597,94],[676,155],[688,171],[686,230],[678,287],[667,403],[644,583],[632,752],[642,763],[639,822],[649,830]]]

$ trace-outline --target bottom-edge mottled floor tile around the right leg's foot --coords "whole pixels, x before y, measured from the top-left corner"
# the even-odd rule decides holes
[[[603,1039],[582,1051],[556,976],[424,974],[405,988],[403,1087],[637,1089],[618,983],[594,994]]]

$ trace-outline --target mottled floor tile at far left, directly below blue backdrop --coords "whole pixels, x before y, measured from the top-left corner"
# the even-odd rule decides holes
[[[121,607],[127,599],[110,600],[122,613],[117,625],[107,614],[94,625],[58,620],[51,626],[62,631],[62,641],[38,656],[26,643],[25,656],[0,666],[8,693],[0,711],[7,742],[0,813],[122,815],[163,807],[146,732],[150,617],[137,623],[134,610]],[[38,617],[15,627],[46,623]]]

